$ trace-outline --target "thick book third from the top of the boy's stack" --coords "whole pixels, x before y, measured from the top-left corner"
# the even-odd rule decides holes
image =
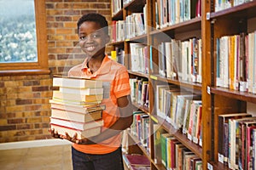
[[[81,101],[81,102],[94,102],[94,101],[102,101],[103,94],[71,94],[65,93],[61,91],[54,90],[53,91],[53,99],[67,99],[71,101]]]

